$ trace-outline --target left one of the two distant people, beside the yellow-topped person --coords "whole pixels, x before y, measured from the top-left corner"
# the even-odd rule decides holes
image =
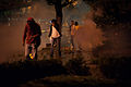
[[[71,25],[70,25],[70,33],[71,33],[71,49],[74,49],[74,41],[73,41],[74,30],[75,30],[74,21],[71,21]]]

